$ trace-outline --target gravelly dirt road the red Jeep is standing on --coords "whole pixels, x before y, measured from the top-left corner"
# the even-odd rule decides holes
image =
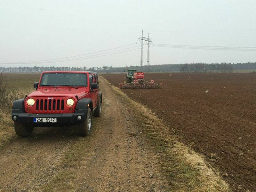
[[[36,128],[0,149],[0,191],[169,191],[132,110],[101,81],[103,110],[90,137]]]

